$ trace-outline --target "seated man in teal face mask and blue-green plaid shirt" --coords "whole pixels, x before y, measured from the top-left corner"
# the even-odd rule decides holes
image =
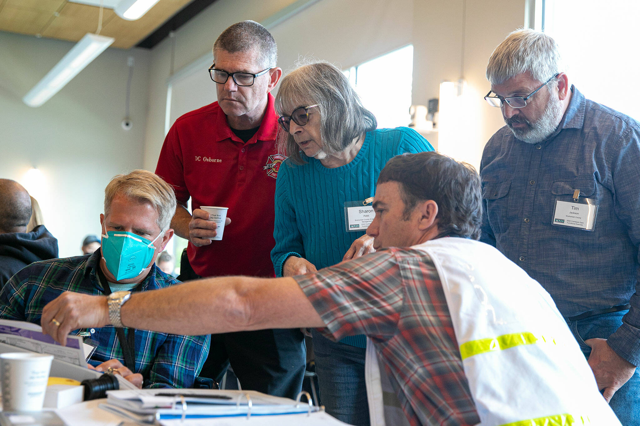
[[[0,318],[40,324],[42,308],[64,291],[103,295],[113,305],[129,291],[179,282],[157,268],[157,255],[173,236],[173,188],[152,172],[118,175],[104,197],[102,247],[93,254],[35,262],[0,292]],[[99,343],[88,363],[115,369],[138,387],[189,388],[209,352],[209,335],[182,336],[134,328],[76,330]]]

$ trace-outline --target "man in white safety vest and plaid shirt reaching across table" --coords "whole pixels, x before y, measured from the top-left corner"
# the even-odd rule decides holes
[[[207,278],[134,294],[122,321],[174,333],[365,334],[367,385],[380,401],[372,414],[388,426],[620,426],[549,294],[476,241],[473,167],[433,152],[396,156],[380,173],[374,209],[375,253],[292,278]],[[107,301],[67,292],[43,319],[64,342],[72,328],[109,323]],[[381,392],[380,380],[376,391],[375,376],[391,389]]]

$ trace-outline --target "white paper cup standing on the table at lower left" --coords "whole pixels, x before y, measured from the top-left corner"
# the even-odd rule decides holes
[[[3,411],[42,410],[52,360],[47,354],[0,354]]]

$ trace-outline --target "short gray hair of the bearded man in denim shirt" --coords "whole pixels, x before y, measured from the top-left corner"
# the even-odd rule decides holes
[[[510,33],[493,50],[486,66],[486,79],[502,84],[515,75],[529,72],[539,82],[563,72],[564,65],[556,40],[533,29],[518,29]],[[557,85],[557,80],[554,80]],[[554,82],[548,86],[552,89]]]

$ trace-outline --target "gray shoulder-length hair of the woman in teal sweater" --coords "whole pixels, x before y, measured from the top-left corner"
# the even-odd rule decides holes
[[[323,149],[329,155],[343,151],[353,139],[378,126],[376,117],[362,106],[347,77],[325,61],[305,63],[283,77],[275,99],[278,115],[316,103]],[[294,164],[305,162],[293,136],[282,128],[278,132],[278,151],[289,156]]]

